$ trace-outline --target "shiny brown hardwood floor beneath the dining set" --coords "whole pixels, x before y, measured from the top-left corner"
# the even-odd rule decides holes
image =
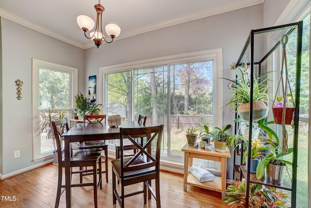
[[[109,181],[105,183],[103,174],[103,189],[98,193],[100,208],[119,208],[112,205],[111,160],[109,164]],[[104,167],[104,164],[103,164]],[[31,170],[17,176],[0,181],[0,207],[2,208],[52,208],[55,204],[58,167],[51,164]],[[91,180],[87,176],[84,180]],[[78,181],[74,175],[72,181]],[[172,172],[160,172],[160,192],[162,208],[228,208],[221,201],[221,194],[206,189],[188,186],[183,190],[183,175]],[[153,184],[153,186],[155,186]],[[141,189],[142,184],[132,185],[126,190]],[[77,187],[71,189],[72,208],[92,208],[92,187]],[[11,201],[10,201],[11,200]],[[65,193],[61,196],[60,208],[66,207]],[[118,203],[117,203],[118,204]],[[143,204],[143,194],[127,197],[126,208],[156,208],[152,198]]]

